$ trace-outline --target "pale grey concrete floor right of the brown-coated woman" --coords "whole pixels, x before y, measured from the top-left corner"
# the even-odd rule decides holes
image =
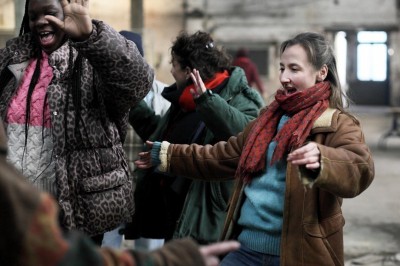
[[[386,111],[379,107],[353,108],[373,153],[375,179],[364,193],[343,202],[348,266],[400,265],[400,136],[389,137],[385,147],[379,147],[381,136],[393,122]],[[400,123],[400,117],[398,120]]]

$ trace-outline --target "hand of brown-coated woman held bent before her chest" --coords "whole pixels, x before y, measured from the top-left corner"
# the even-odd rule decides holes
[[[317,170],[320,164],[321,152],[315,142],[310,142],[303,147],[289,153],[287,160],[294,165],[305,165],[307,169]]]

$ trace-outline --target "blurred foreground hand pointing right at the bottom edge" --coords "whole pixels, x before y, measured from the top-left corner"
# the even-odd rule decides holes
[[[203,256],[206,266],[218,266],[219,255],[226,254],[234,251],[240,247],[240,243],[237,241],[224,241],[207,246],[200,247],[200,253]]]

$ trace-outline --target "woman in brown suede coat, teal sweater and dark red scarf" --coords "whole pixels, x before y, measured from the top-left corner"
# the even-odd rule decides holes
[[[159,156],[140,153],[136,165],[160,162],[162,171],[200,180],[235,176],[221,239],[241,247],[221,265],[344,265],[341,204],[371,184],[371,153],[344,108],[325,38],[302,33],[280,52],[282,88],[242,133],[214,146],[154,143]]]

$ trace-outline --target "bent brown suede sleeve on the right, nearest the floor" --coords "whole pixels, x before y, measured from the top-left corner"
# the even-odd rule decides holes
[[[343,198],[363,192],[374,178],[374,162],[360,125],[345,114],[337,118],[337,131],[327,135],[315,186]]]

